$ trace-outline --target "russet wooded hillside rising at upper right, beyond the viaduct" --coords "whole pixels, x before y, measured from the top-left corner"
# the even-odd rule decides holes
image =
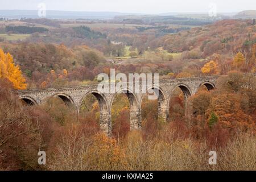
[[[255,28],[251,20],[229,19],[165,35],[158,39],[156,46],[168,52],[187,51],[187,57],[207,57],[214,53],[232,55],[255,43]]]

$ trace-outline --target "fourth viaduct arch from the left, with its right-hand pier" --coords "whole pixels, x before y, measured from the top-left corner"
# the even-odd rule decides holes
[[[127,88],[118,90],[112,100],[110,101],[110,111],[117,94],[123,93],[127,96],[129,100],[129,109],[130,109],[130,130],[138,130],[141,128],[141,107],[139,106],[138,98],[136,94]]]

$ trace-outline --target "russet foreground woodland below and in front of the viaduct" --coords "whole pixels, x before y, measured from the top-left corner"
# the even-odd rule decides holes
[[[83,110],[89,113],[77,120],[74,110],[58,98],[49,99],[40,107],[24,107],[10,92],[10,81],[3,81],[0,168],[212,170],[208,152],[215,150],[221,160],[217,169],[255,169],[255,87],[241,87],[253,83],[241,73],[230,72],[218,80],[218,89],[201,90],[189,98],[187,116],[181,111],[184,97],[177,90],[171,99],[171,121],[167,123],[157,120],[157,101],[147,101],[145,97],[142,131],[129,131],[127,97],[121,94],[117,98],[122,109],[113,113],[113,137],[109,138],[101,133],[96,119],[97,100],[85,100],[88,107]],[[47,152],[45,168],[37,163],[38,150]],[[242,155],[245,153],[246,157]],[[230,160],[237,165],[230,165]]]

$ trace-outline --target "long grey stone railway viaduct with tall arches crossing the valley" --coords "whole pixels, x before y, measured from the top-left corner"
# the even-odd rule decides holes
[[[153,83],[151,89],[157,90],[159,93],[158,119],[163,122],[168,121],[169,102],[175,88],[179,87],[183,91],[185,98],[188,98],[195,94],[202,85],[205,85],[208,90],[213,89],[218,77],[220,76],[159,80],[158,86],[155,86]],[[141,82],[135,82],[134,84],[141,85]],[[111,135],[112,132],[111,108],[115,95],[125,93],[130,104],[130,129],[141,129],[141,104],[144,93],[134,93],[133,90],[126,88],[120,89],[115,93],[101,93],[98,92],[97,86],[98,85],[86,85],[64,88],[18,90],[16,93],[21,100],[30,105],[42,104],[49,97],[59,97],[65,104],[73,105],[77,110],[77,114],[79,113],[82,100],[88,94],[93,94],[100,105],[100,129],[107,135]],[[129,87],[127,86],[127,88]]]

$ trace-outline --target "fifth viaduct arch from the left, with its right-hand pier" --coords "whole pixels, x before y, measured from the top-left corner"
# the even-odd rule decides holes
[[[160,122],[167,122],[169,118],[169,105],[167,102],[167,96],[164,94],[164,91],[162,88],[159,86],[151,86],[148,90],[153,89],[153,90],[158,90],[158,121]],[[143,99],[142,99],[143,100]],[[141,104],[142,104],[141,100]]]

